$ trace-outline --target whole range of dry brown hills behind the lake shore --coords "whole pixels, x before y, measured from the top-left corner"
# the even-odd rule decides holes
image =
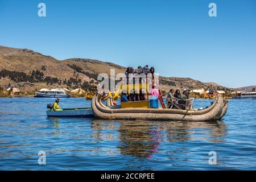
[[[125,67],[110,62],[82,58],[57,60],[52,56],[42,55],[42,53],[38,53],[30,49],[4,46],[0,46],[0,63],[0,71],[2,69],[6,69],[7,71],[12,72],[23,72],[27,74],[26,77],[32,77],[31,73],[38,70],[40,75],[43,75],[43,77],[59,79],[58,83],[51,82],[49,85],[68,85],[70,88],[75,88],[82,85],[88,86],[88,84],[96,84],[97,75],[99,73],[107,73],[110,75],[110,69],[115,69],[116,74],[124,73],[126,71]],[[35,74],[34,72],[33,74]],[[32,85],[26,89],[39,89],[40,87],[44,86],[43,82],[44,81],[39,84],[39,81],[36,81],[35,86]],[[5,85],[8,83],[15,84],[15,81],[11,81],[7,77],[0,78],[0,85]],[[166,92],[170,90],[170,88],[216,88],[220,90],[230,90],[230,88],[226,88],[225,86],[218,85],[214,82],[201,82],[198,80],[193,80],[192,78],[159,76],[159,84],[160,89]],[[21,83],[19,83],[19,85],[22,86]]]

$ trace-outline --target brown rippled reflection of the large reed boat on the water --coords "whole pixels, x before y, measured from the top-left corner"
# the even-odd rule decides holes
[[[118,140],[117,148],[123,155],[150,158],[160,152],[162,142],[204,140],[220,143],[226,126],[215,122],[158,122],[158,121],[103,121],[93,120],[93,136],[101,140]],[[112,137],[109,137],[112,135]],[[181,147],[182,148],[182,147]],[[183,150],[186,150],[183,148]],[[184,151],[180,151],[184,152]]]

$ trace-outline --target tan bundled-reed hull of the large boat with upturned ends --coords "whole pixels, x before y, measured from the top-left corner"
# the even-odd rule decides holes
[[[92,111],[99,119],[151,120],[151,121],[216,121],[228,110],[228,100],[217,96],[212,105],[203,110],[126,108],[110,109],[101,102],[101,94],[92,99]]]

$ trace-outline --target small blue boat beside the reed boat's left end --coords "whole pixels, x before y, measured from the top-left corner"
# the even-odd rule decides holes
[[[48,117],[71,117],[71,118],[91,118],[94,117],[91,107],[85,108],[69,108],[63,110],[51,110],[46,111]]]

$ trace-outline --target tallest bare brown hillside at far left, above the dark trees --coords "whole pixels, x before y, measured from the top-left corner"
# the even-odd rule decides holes
[[[38,69],[42,71],[42,67],[46,67],[46,71],[42,71],[46,76],[70,78],[73,77],[74,70],[69,68],[63,61],[54,59],[51,56],[44,56],[38,52],[29,49],[17,49],[0,46],[0,69],[10,71],[19,71],[30,73]],[[88,76],[79,74],[82,80],[90,80]]]

